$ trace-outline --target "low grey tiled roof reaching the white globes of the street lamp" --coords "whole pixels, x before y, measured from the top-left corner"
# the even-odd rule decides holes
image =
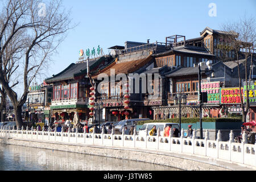
[[[206,71],[208,70],[207,65],[202,65],[201,66],[201,71]],[[187,75],[197,75],[199,72],[198,67],[178,67],[174,69],[171,72],[166,73],[166,77],[179,77],[179,76],[187,76]]]

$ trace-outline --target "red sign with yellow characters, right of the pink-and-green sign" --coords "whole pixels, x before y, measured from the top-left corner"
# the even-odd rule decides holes
[[[241,88],[243,94],[243,88]],[[221,104],[241,104],[239,88],[221,88]]]

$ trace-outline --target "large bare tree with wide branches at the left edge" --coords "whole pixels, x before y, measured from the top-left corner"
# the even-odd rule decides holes
[[[0,13],[0,84],[14,106],[16,125],[20,129],[22,106],[34,78],[43,72],[57,46],[71,27],[69,11],[61,0],[9,0]],[[20,98],[14,87],[22,78]]]

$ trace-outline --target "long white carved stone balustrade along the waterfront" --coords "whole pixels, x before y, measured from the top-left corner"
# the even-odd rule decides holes
[[[111,134],[96,134],[93,129],[93,133],[71,133],[70,128],[65,133],[63,129],[61,132],[57,132],[56,128],[54,132],[51,131],[39,131],[32,127],[31,130],[14,130],[10,127],[0,128],[0,137],[5,138],[23,138],[39,141],[52,141],[63,143],[79,143],[79,144],[92,144],[98,146],[116,146],[127,148],[142,148],[148,150],[170,151],[179,152],[180,154],[195,154],[201,156],[208,156],[213,159],[221,159],[234,163],[241,163],[250,166],[256,166],[256,144],[247,143],[247,134],[243,133],[242,143],[234,143],[234,133],[230,131],[229,141],[221,141],[221,131],[218,131],[217,140],[209,140],[209,132],[205,132],[204,139],[196,138],[196,131],[193,131],[192,138],[184,137],[184,130],[181,130],[180,138],[174,138],[171,136],[160,136],[160,131],[157,131],[156,136],[149,136],[146,132],[145,135],[125,135],[124,130],[121,135],[115,135],[112,129]]]

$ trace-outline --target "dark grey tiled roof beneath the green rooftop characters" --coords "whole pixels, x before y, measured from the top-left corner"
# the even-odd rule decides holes
[[[96,64],[101,62],[104,59],[105,57],[101,57],[100,59],[89,61],[90,69],[93,69],[94,67],[96,67]],[[82,63],[76,63],[76,64],[72,63],[66,69],[64,69],[64,71],[58,73],[57,75],[53,75],[50,78],[47,78],[45,81],[49,83],[54,81],[73,79],[75,76],[79,76],[81,75],[81,73],[86,73],[86,72],[87,72],[86,61]]]

